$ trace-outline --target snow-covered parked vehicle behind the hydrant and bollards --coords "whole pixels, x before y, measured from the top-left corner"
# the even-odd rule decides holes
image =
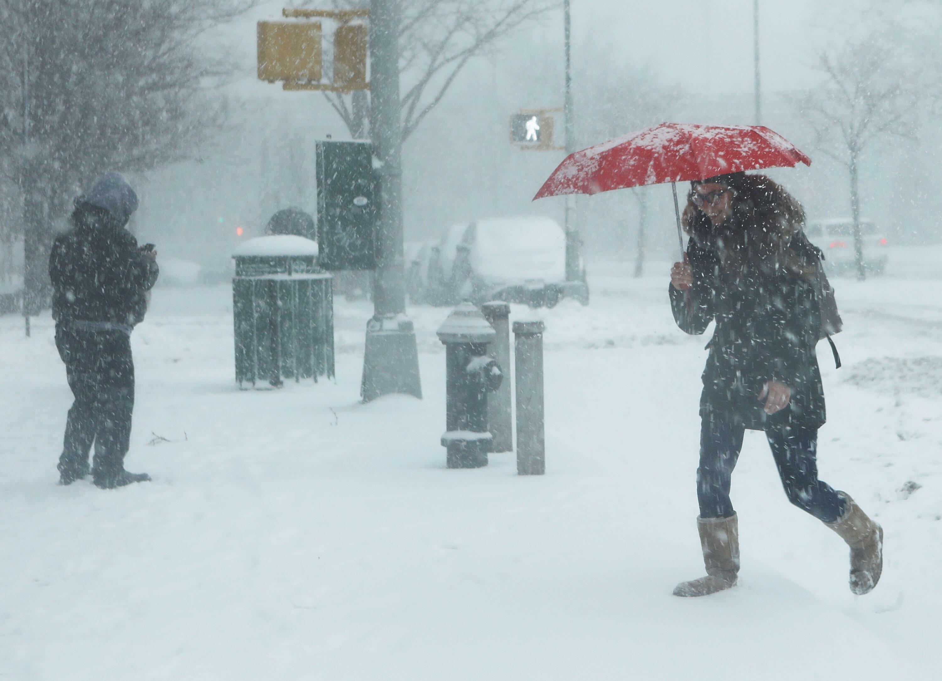
[[[552,307],[565,292],[566,236],[549,218],[488,218],[451,225],[414,267],[433,305],[506,300]],[[417,300],[416,300],[417,301]]]

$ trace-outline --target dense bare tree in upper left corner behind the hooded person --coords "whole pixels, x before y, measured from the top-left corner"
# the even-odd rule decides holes
[[[195,41],[258,2],[0,0],[0,173],[20,190],[40,307],[52,220],[95,175],[186,158],[219,126],[209,93],[230,70]]]

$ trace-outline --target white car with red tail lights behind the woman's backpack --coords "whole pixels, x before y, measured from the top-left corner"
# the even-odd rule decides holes
[[[853,274],[853,220],[822,219],[808,222],[804,234],[824,251],[824,268],[828,274]],[[864,247],[864,269],[868,274],[883,274],[886,268],[887,236],[870,220],[860,220],[860,236]]]

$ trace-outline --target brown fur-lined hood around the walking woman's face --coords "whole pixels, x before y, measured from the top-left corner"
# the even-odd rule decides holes
[[[702,248],[716,251],[723,271],[736,278],[762,273],[788,273],[807,279],[813,272],[791,247],[791,240],[804,229],[804,209],[780,185],[765,175],[733,173],[710,178],[735,191],[733,214],[721,225],[688,201],[683,226]]]

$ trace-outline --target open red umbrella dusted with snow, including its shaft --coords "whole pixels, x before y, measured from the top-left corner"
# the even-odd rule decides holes
[[[683,251],[676,183],[800,162],[811,165],[807,155],[764,125],[661,123],[569,154],[533,200],[670,182]]]

